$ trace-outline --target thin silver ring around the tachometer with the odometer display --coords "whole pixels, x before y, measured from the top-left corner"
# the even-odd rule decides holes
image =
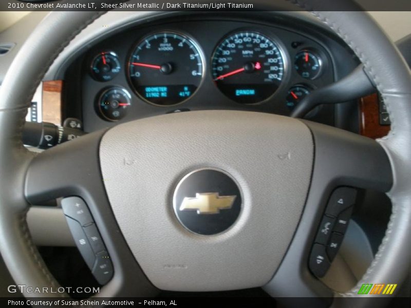
[[[185,99],[182,100],[181,102],[178,102],[178,103],[176,103],[176,104],[170,104],[170,105],[160,105],[160,104],[156,104],[156,103],[150,102],[150,101],[148,101],[146,98],[144,98],[143,95],[141,95],[141,94],[137,91],[136,87],[134,86],[133,81],[132,81],[132,78],[131,78],[131,74],[130,74],[130,60],[132,59],[132,56],[133,56],[133,54],[135,53],[137,47],[138,47],[143,41],[145,41],[148,37],[152,37],[152,36],[154,36],[154,35],[156,35],[156,34],[164,34],[164,33],[167,33],[167,34],[176,34],[176,35],[178,35],[178,36],[181,36],[181,37],[185,38],[186,41],[190,42],[190,43],[196,48],[196,50],[197,50],[197,52],[198,52],[198,55],[199,55],[200,61],[201,61],[201,67],[202,67],[202,69],[201,69],[201,76],[200,76],[200,82],[199,82],[199,84],[198,84],[198,86],[197,86],[197,89],[190,95],[190,97],[185,98]],[[126,67],[126,79],[127,79],[127,82],[128,82],[128,84],[129,84],[130,88],[131,88],[131,89],[133,90],[133,92],[137,95],[137,97],[138,97],[139,99],[141,99],[143,102],[145,102],[145,103],[147,103],[147,104],[150,104],[150,105],[152,105],[152,106],[156,106],[156,107],[172,107],[172,106],[177,106],[177,105],[181,105],[181,104],[185,103],[186,101],[192,99],[192,98],[194,97],[194,95],[197,94],[198,90],[200,89],[200,87],[202,86],[202,84],[203,84],[203,82],[204,82],[204,74],[206,73],[206,66],[207,66],[207,64],[206,64],[206,61],[205,61],[204,52],[203,52],[200,44],[195,40],[195,38],[194,38],[192,35],[190,35],[190,34],[188,34],[188,33],[186,33],[186,32],[176,31],[176,30],[173,30],[173,29],[171,29],[171,30],[169,30],[169,29],[156,30],[156,31],[149,32],[149,33],[141,36],[141,37],[139,38],[139,40],[138,40],[135,44],[133,44],[132,48],[131,48],[130,51],[128,52],[128,55],[127,55],[127,58],[126,58],[126,63],[125,63],[125,67]]]

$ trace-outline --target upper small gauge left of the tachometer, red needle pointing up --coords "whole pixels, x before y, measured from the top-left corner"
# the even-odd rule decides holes
[[[97,81],[110,81],[120,70],[117,54],[112,51],[99,53],[91,63],[91,75]]]

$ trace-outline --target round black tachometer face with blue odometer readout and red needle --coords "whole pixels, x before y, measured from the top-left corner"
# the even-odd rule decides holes
[[[181,103],[195,93],[203,76],[202,54],[188,37],[161,32],[143,38],[128,64],[129,79],[145,101]]]

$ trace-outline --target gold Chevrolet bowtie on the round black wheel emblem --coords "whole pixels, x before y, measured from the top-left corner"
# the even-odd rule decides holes
[[[218,214],[220,209],[231,208],[236,197],[219,196],[218,192],[197,193],[195,198],[185,197],[180,210],[197,210],[197,214]]]

